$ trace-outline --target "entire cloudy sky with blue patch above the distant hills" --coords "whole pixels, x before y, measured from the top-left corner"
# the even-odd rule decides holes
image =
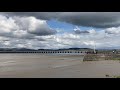
[[[0,48],[120,49],[120,12],[0,12]]]

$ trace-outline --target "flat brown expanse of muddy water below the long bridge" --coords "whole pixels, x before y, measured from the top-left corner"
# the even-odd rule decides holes
[[[106,78],[120,62],[85,61],[81,55],[0,54],[0,78]]]

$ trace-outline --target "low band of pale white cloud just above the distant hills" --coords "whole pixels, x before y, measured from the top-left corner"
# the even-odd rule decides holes
[[[8,38],[2,37],[1,40],[7,40]],[[40,40],[39,40],[40,39]],[[120,36],[107,35],[105,37],[104,31],[97,31],[97,34],[89,35],[76,35],[73,33],[63,33],[50,36],[36,36],[33,39],[18,39],[9,38],[8,41],[2,41],[0,47],[24,47],[24,48],[48,48],[48,49],[58,49],[58,48],[93,48],[94,41],[96,42],[96,48],[111,48],[119,47]]]

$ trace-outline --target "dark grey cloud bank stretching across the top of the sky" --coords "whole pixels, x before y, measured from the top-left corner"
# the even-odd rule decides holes
[[[110,28],[120,25],[120,12],[6,12],[11,16],[34,16],[43,20],[56,19],[78,26]]]

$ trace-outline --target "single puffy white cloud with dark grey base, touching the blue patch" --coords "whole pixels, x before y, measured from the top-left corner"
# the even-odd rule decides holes
[[[35,17],[14,17],[20,29],[27,30],[30,34],[36,35],[51,35],[56,34],[45,20],[36,19]]]

